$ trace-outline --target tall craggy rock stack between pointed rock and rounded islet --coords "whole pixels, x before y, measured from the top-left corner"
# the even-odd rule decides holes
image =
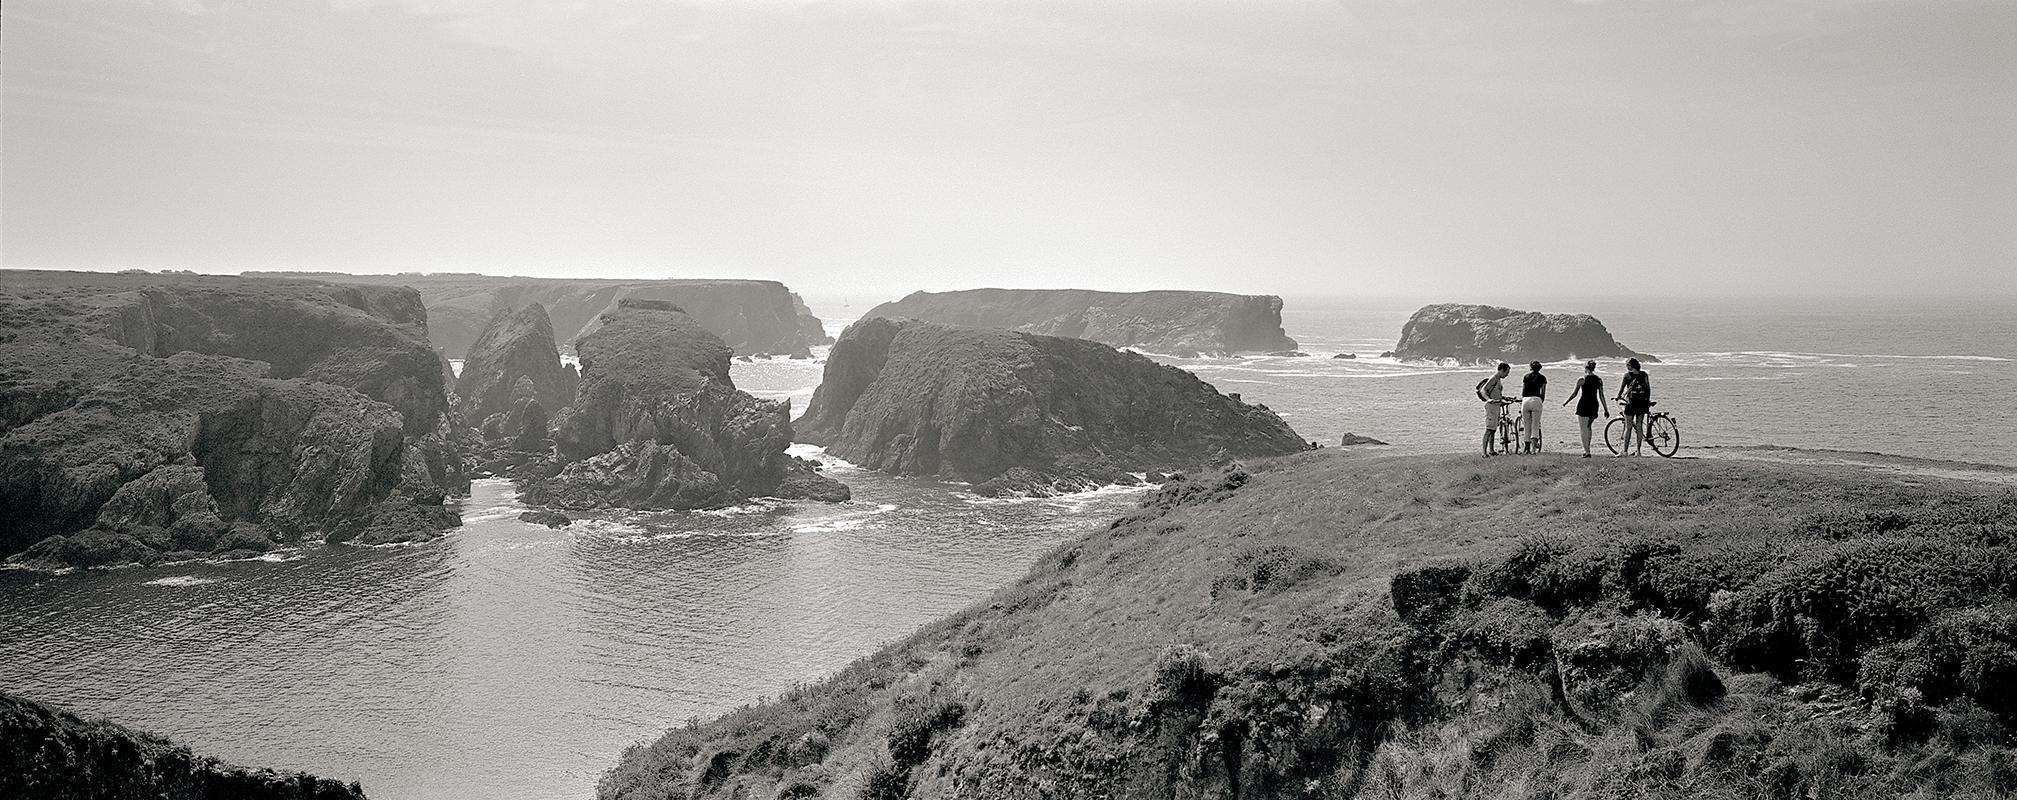
[[[559,508],[722,508],[756,496],[847,500],[785,453],[791,405],[738,391],[732,351],[666,300],[619,300],[575,343],[581,393],[555,421],[561,470],[524,498]]]

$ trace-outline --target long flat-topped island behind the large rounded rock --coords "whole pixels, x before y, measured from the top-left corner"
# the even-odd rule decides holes
[[[1281,330],[1281,298],[1273,294],[972,288],[912,292],[869,308],[867,316],[1091,339],[1182,357],[1295,349],[1295,339]]]

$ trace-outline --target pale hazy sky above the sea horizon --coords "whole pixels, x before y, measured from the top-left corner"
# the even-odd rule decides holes
[[[2017,2],[8,0],[0,266],[2017,294]]]

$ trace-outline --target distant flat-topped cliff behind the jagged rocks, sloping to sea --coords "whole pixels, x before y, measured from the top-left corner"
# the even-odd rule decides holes
[[[284,272],[276,272],[284,274]],[[428,332],[434,347],[450,359],[462,359],[484,326],[502,312],[514,312],[539,302],[547,308],[553,328],[571,343],[595,326],[601,314],[615,310],[621,298],[670,300],[720,337],[738,355],[807,355],[813,345],[827,345],[825,328],[803,302],[775,280],[603,280],[603,278],[508,278],[486,274],[341,274],[307,272],[301,278],[321,278],[345,284],[411,286],[428,306]]]

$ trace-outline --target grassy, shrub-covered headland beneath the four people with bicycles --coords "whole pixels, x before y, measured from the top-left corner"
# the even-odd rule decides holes
[[[1303,453],[1170,484],[601,796],[2011,796],[2013,566],[2007,488]]]

